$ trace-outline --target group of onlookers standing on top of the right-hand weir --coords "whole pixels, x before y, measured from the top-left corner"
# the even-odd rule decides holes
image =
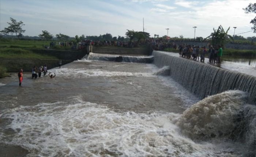
[[[206,47],[199,47],[199,46],[191,46],[191,45],[180,45],[179,47],[179,54],[184,58],[192,58],[193,60],[199,60],[199,52],[200,52],[200,62],[204,62],[204,58],[206,53],[208,53],[209,62],[218,65],[221,65],[221,56],[222,56],[222,47],[218,46],[213,47],[209,45],[209,49],[207,51]]]

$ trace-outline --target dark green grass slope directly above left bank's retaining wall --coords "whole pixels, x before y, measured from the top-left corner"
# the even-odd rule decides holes
[[[22,48],[0,48],[0,58],[57,59],[54,56],[41,55]]]

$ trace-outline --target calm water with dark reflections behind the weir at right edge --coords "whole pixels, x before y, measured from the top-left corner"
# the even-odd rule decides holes
[[[246,66],[256,67],[256,58],[241,58],[241,57],[223,56],[223,60],[246,65]]]

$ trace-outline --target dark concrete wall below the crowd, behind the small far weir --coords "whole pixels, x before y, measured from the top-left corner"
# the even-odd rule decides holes
[[[93,47],[93,53],[119,54],[119,55],[151,55],[149,47],[145,48],[122,48],[122,47]]]

